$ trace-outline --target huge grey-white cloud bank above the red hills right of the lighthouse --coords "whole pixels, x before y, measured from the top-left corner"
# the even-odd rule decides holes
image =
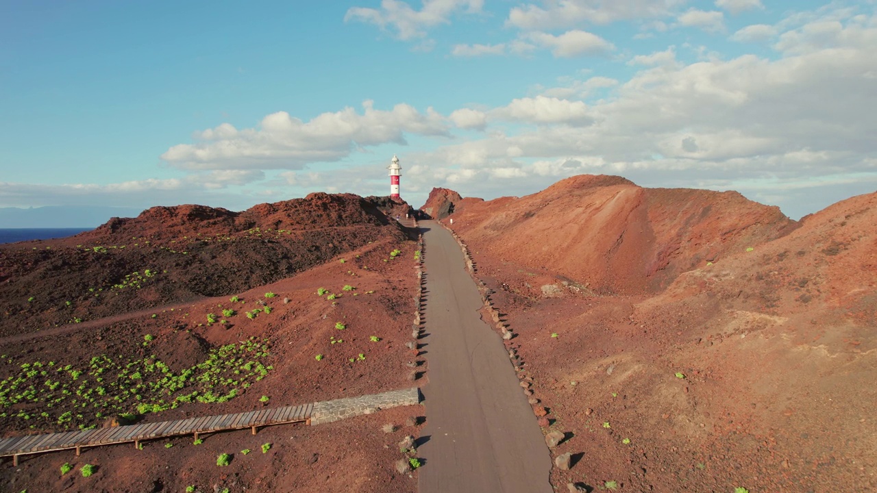
[[[593,77],[564,81],[541,91],[541,102],[522,98],[487,111],[490,121],[535,127],[488,127],[483,139],[408,156],[424,164],[409,180],[470,196],[510,195],[581,173],[652,186],[739,185],[753,198],[785,196],[777,204],[795,217],[815,210],[813,196],[818,207],[849,196],[852,188],[838,183],[850,176],[857,193],[873,191],[877,119],[863,102],[874,99],[877,19],[847,18],[839,28],[825,22],[785,33],[778,60],[747,54],[671,63],[667,50],[638,59],[642,69],[617,86]],[[576,104],[588,82],[612,88],[610,96]],[[581,125],[563,125],[574,116]],[[434,162],[450,166],[427,166]],[[809,187],[811,196],[785,194],[788,183]]]

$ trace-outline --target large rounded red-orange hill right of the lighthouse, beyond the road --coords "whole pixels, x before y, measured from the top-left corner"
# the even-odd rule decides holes
[[[453,219],[474,251],[605,294],[657,292],[682,272],[798,227],[737,192],[645,189],[603,175],[472,202]]]

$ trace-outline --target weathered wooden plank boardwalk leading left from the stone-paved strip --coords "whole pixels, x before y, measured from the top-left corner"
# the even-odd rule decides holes
[[[199,433],[240,430],[244,428],[250,428],[253,430],[253,434],[256,434],[256,429],[260,426],[310,422],[310,414],[313,409],[314,404],[302,404],[239,412],[237,414],[220,414],[217,416],[202,416],[175,421],[160,421],[158,423],[113,426],[84,432],[57,432],[10,437],[8,439],[0,439],[0,457],[11,455],[13,465],[18,466],[18,456],[25,454],[41,454],[75,448],[76,455],[79,455],[82,447],[96,447],[126,442],[134,442],[134,446],[137,447],[140,440],[190,434],[195,435],[197,439]]]

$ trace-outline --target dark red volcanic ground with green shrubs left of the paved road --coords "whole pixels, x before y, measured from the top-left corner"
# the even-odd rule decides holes
[[[0,247],[3,436],[412,386],[405,343],[417,244],[381,209],[326,194],[244,212],[156,207],[68,239]],[[402,436],[417,436],[402,425],[418,413],[217,433],[198,446],[186,437],[142,451],[31,455],[18,468],[7,458],[0,490],[413,491],[416,478],[393,463]],[[400,429],[384,433],[387,423]],[[246,448],[253,453],[240,454]],[[222,453],[234,454],[225,468],[216,465]],[[61,478],[65,462],[98,469]]]

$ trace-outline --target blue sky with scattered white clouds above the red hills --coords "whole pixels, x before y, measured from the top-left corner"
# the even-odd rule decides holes
[[[0,207],[877,189],[877,4],[0,1]]]

